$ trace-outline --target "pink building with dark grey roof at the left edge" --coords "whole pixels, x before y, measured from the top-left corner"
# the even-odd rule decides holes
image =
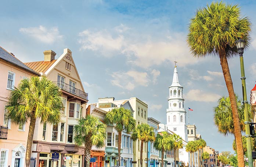
[[[15,125],[4,110],[10,90],[24,78],[39,75],[0,47],[0,167],[24,167],[29,124]]]

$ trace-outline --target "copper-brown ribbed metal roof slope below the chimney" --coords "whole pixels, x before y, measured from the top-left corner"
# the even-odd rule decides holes
[[[53,65],[55,61],[56,60],[52,60],[48,62],[34,61],[34,62],[25,62],[24,64],[26,64],[29,68],[35,70],[38,73],[40,72],[45,73],[51,67],[51,65]]]

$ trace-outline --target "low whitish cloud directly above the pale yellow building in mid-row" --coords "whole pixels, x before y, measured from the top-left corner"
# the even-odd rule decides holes
[[[136,86],[148,86],[149,79],[146,72],[138,71],[127,71],[127,72],[113,72],[111,74],[113,80],[111,80],[112,85],[118,86],[120,88],[125,88],[127,90],[133,90]]]

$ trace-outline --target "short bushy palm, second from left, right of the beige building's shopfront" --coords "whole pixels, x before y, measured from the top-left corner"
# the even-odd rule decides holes
[[[84,162],[86,167],[90,166],[91,147],[93,145],[96,148],[104,147],[104,141],[106,139],[106,128],[98,117],[86,115],[84,118],[80,118],[78,124],[74,126],[74,141],[77,145],[83,145],[84,148]]]

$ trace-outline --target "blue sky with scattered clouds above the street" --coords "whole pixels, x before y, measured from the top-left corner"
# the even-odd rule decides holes
[[[166,124],[174,61],[189,123],[208,146],[230,151],[234,136],[220,134],[213,107],[227,88],[218,57],[197,59],[186,43],[196,9],[209,0],[10,0],[1,2],[0,46],[23,62],[43,60],[44,50],[58,58],[69,48],[89,93],[98,98],[137,97],[148,104],[148,117]],[[251,44],[244,52],[247,98],[256,81],[256,2],[238,4],[252,22]],[[228,61],[234,91],[242,98],[239,58]],[[187,120],[188,123],[188,120]]]

